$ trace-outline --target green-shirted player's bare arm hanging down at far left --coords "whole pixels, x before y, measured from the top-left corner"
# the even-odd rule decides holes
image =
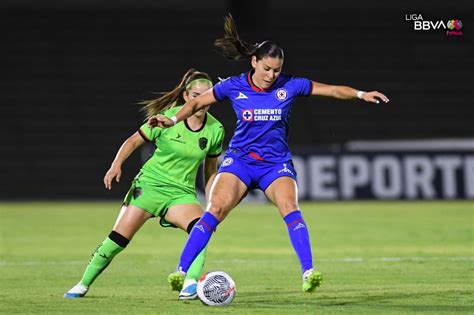
[[[137,131],[131,135],[125,142],[122,144],[120,149],[115,156],[112,165],[104,176],[104,185],[107,189],[112,189],[112,180],[115,178],[116,182],[120,182],[120,177],[122,176],[122,164],[125,160],[133,153],[137,148],[145,143],[145,140]]]

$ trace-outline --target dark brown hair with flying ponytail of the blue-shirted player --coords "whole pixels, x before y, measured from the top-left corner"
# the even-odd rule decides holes
[[[241,60],[255,56],[257,60],[264,57],[283,59],[283,49],[273,41],[263,41],[261,43],[249,44],[240,39],[231,14],[224,17],[224,37],[216,39],[214,46],[222,51],[222,55],[227,59]]]

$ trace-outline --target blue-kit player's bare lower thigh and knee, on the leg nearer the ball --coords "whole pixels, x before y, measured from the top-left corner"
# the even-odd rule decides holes
[[[207,211],[222,221],[242,200],[247,190],[247,186],[236,175],[219,173],[211,188]]]

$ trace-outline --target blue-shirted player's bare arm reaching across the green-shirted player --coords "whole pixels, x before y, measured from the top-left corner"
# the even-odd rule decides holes
[[[150,128],[154,127],[161,127],[161,128],[169,128],[174,126],[180,121],[185,120],[186,118],[192,116],[195,112],[204,107],[211,105],[217,102],[216,98],[214,97],[213,88],[210,88],[206,92],[202,93],[198,97],[195,97],[186,104],[176,113],[174,116],[176,121],[174,122],[172,119],[166,117],[165,115],[155,115],[148,119],[148,126]]]

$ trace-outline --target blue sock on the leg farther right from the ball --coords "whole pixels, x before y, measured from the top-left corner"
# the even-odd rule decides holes
[[[306,223],[299,210],[287,214],[284,218],[290,234],[291,244],[300,260],[301,270],[305,272],[313,268],[313,257],[309,244],[309,234]]]

